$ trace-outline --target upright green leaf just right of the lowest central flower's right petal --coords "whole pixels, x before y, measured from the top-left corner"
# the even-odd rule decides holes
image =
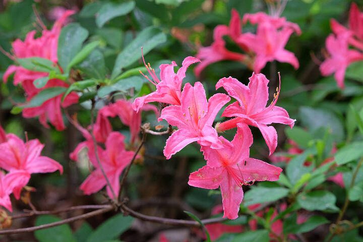
[[[286,166],[286,175],[292,185],[295,185],[297,181],[306,173],[310,173],[313,170],[313,166],[305,166],[304,163],[308,156],[311,155],[312,149],[304,151],[304,153],[295,156],[290,160]]]

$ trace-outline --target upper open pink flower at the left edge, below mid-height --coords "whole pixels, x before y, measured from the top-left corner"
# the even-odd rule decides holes
[[[63,173],[63,167],[55,160],[40,156],[44,145],[39,140],[30,140],[24,143],[19,137],[14,134],[7,135],[7,142],[0,144],[0,167],[13,172],[14,170],[25,171],[28,174],[32,173],[48,173],[59,170]],[[29,181],[30,176],[22,186],[14,190],[14,195],[18,199],[21,188]]]

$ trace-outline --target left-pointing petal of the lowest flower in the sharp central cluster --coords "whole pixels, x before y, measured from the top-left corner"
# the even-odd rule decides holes
[[[217,189],[221,180],[221,174],[224,168],[203,166],[197,171],[189,175],[189,186],[204,188],[204,189]]]

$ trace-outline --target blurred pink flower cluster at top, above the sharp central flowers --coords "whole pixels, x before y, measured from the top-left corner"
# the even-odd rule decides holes
[[[257,32],[243,33],[241,22],[257,24]],[[232,17],[229,26],[218,25],[213,32],[214,42],[211,46],[202,47],[197,53],[197,57],[202,60],[195,69],[195,74],[200,76],[204,68],[212,63],[224,60],[244,63],[255,73],[260,73],[266,63],[278,61],[289,63],[295,69],[299,63],[295,55],[285,49],[285,45],[290,35],[296,32],[300,34],[300,28],[283,17],[270,16],[263,12],[255,14],[245,14],[241,20],[236,10],[232,10]],[[229,36],[231,40],[244,51],[244,53],[233,52],[226,48],[224,36]]]

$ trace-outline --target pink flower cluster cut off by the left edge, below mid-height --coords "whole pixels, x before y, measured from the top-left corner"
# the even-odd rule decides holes
[[[28,184],[32,173],[48,173],[63,167],[55,160],[40,156],[43,149],[39,140],[29,140],[24,143],[14,134],[5,134],[0,126],[0,205],[12,211],[10,194],[20,198],[21,190]]]

